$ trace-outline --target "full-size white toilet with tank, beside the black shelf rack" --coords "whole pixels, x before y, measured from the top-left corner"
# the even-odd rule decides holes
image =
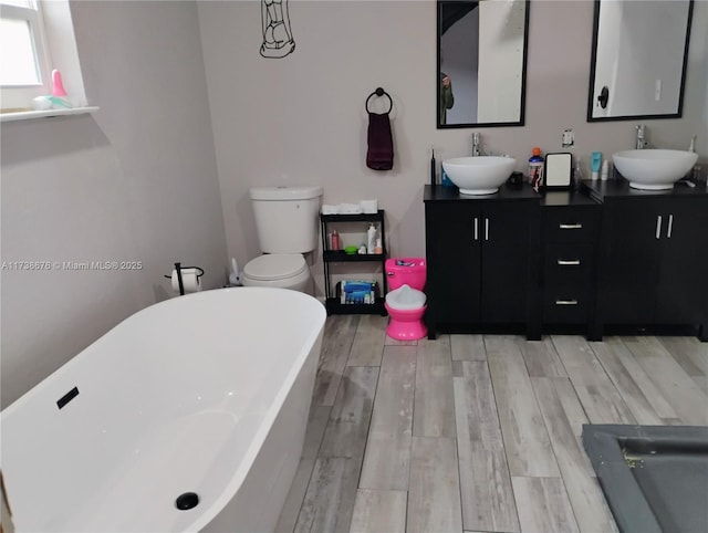
[[[312,292],[303,253],[317,247],[322,187],[252,187],[250,189],[261,251],[243,268],[246,286],[278,286]]]

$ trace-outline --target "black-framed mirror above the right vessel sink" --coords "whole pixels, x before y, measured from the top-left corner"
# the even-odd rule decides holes
[[[694,0],[595,0],[587,122],[678,118]]]

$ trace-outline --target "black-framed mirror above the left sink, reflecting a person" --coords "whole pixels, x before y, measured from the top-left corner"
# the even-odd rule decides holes
[[[529,0],[438,0],[437,127],[523,126]]]

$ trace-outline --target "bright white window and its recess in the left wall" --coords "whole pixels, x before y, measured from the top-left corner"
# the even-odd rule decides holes
[[[69,0],[0,0],[0,108],[33,108],[52,93],[51,71],[62,73],[67,100],[86,105]]]

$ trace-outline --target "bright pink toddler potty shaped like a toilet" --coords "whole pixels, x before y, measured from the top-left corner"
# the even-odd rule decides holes
[[[384,306],[391,321],[386,335],[398,341],[417,341],[428,334],[423,323],[426,295],[426,264],[423,258],[392,258],[386,260],[386,276],[391,292]]]

